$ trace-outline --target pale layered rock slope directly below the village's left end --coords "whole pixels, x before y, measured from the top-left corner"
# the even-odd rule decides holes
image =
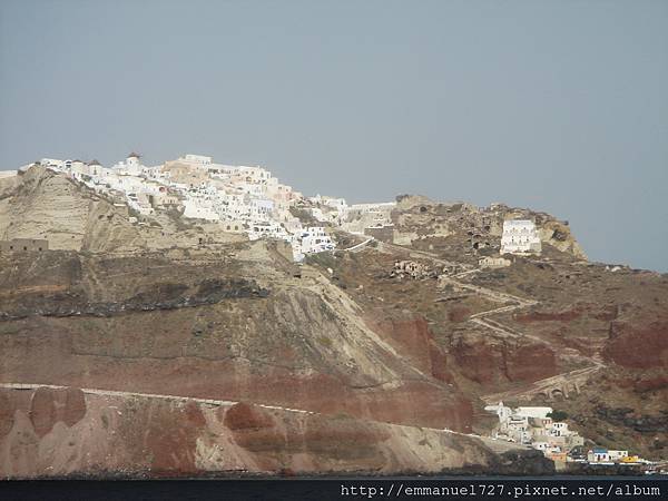
[[[87,253],[134,253],[247,239],[225,232],[222,225],[195,225],[170,216],[132,215],[124,199],[109,198],[39,166],[0,184],[0,239],[43,238],[51,249]],[[141,219],[141,224],[130,217]]]

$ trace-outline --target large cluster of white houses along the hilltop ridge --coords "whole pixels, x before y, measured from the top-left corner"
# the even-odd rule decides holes
[[[215,222],[223,230],[246,233],[249,239],[287,240],[295,261],[335,247],[324,223],[346,225],[348,217],[360,219],[360,214],[373,215],[375,223],[386,222],[389,207],[394,206],[394,203],[348,206],[343,198],[320,195],[304,198],[262,167],[216,164],[203,155],[185,155],[154,167],[143,165],[135,153],[112,167],[104,167],[97,160],[52,158],[43,158],[39,164],[65,173],[98,193],[120,198],[140,215],[177,209],[183,217]],[[303,204],[305,200],[312,204]],[[291,213],[296,205],[304,205],[321,225],[304,226]]]

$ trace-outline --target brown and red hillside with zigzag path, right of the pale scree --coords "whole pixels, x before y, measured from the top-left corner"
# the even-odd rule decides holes
[[[375,243],[311,263],[332,269],[333,283],[401,338],[406,353],[415,337],[439,347],[442,366],[474,402],[474,429],[493,424],[475,397],[548,401],[597,443],[665,456],[668,276],[581,261],[569,235],[559,236],[569,243],[564,250],[548,240],[541,256],[481,269],[478,257],[494,252],[500,228],[481,214],[465,205],[401,199],[393,218],[400,230],[411,229],[411,245]],[[481,242],[490,246],[473,247],[471,238],[485,230]],[[426,272],[416,278],[394,273],[405,259]]]

